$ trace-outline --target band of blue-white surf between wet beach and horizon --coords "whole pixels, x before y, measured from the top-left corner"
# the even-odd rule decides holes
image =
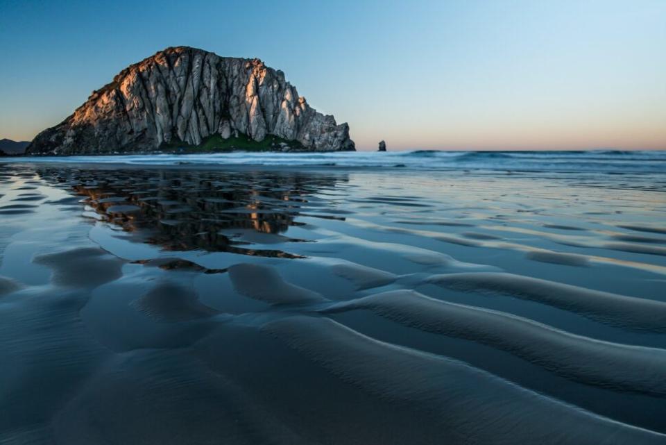
[[[394,151],[342,153],[205,153],[4,158],[2,162],[212,165],[426,170],[570,171],[666,173],[666,151]]]

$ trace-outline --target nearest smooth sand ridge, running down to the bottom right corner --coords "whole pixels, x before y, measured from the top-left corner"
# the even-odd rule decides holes
[[[666,440],[664,435],[572,408],[462,362],[379,342],[330,319],[292,317],[266,324],[264,330],[366,391],[432,410],[451,443],[536,440],[597,445]]]

